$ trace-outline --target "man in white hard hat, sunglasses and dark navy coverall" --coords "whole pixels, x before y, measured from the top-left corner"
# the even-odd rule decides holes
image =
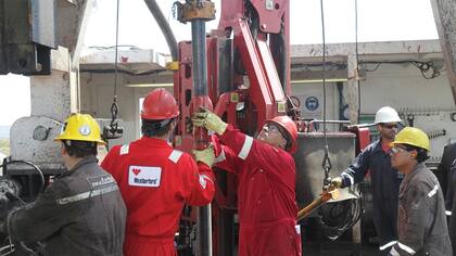
[[[372,216],[381,255],[387,255],[397,241],[397,194],[404,176],[391,167],[389,152],[400,121],[394,108],[383,106],[378,110],[375,124],[380,139],[366,146],[353,164],[331,182],[337,188],[345,188],[362,182],[366,174],[370,172]]]

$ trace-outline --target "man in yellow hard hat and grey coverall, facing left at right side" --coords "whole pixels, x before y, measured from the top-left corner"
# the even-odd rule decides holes
[[[442,189],[425,161],[429,138],[418,128],[397,133],[391,150],[391,164],[405,175],[398,194],[398,241],[391,255],[452,255]]]

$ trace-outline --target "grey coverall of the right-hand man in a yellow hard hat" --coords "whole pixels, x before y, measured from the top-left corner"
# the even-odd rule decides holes
[[[442,190],[423,163],[401,184],[397,231],[400,255],[452,255]]]

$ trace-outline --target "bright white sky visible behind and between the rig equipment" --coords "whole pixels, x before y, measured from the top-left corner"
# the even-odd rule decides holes
[[[174,0],[157,0],[178,40],[190,39],[190,25],[174,21]],[[219,10],[219,0],[216,9]],[[291,43],[320,43],[319,0],[290,0]],[[96,0],[85,46],[115,44],[115,0]],[[355,40],[355,0],[324,0],[327,42]],[[142,0],[121,0],[119,44],[168,52],[165,39]],[[207,24],[207,31],[216,26]],[[358,40],[393,41],[438,38],[430,0],[358,0]],[[0,126],[30,113],[28,78],[0,76]]]

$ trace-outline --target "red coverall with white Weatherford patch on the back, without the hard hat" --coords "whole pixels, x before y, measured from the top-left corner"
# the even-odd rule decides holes
[[[126,255],[175,255],[183,204],[204,205],[214,194],[214,184],[206,185],[213,181],[201,180],[191,156],[162,139],[114,146],[102,167],[116,179],[127,205]]]

